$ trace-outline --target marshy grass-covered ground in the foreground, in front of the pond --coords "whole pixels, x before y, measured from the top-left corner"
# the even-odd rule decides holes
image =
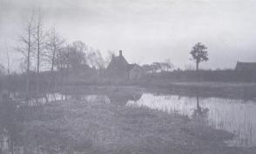
[[[69,100],[44,106],[41,117],[51,114],[54,118],[23,123],[22,136],[30,151],[39,147],[44,153],[255,153],[252,148],[227,147],[224,142],[232,134],[174,113]]]

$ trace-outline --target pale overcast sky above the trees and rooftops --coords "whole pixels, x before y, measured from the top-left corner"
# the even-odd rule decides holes
[[[45,27],[69,42],[81,40],[103,55],[123,49],[130,62],[171,58],[184,67],[196,42],[208,47],[204,68],[256,61],[255,0],[0,0],[1,63],[6,42],[11,48],[22,19],[38,6]]]

